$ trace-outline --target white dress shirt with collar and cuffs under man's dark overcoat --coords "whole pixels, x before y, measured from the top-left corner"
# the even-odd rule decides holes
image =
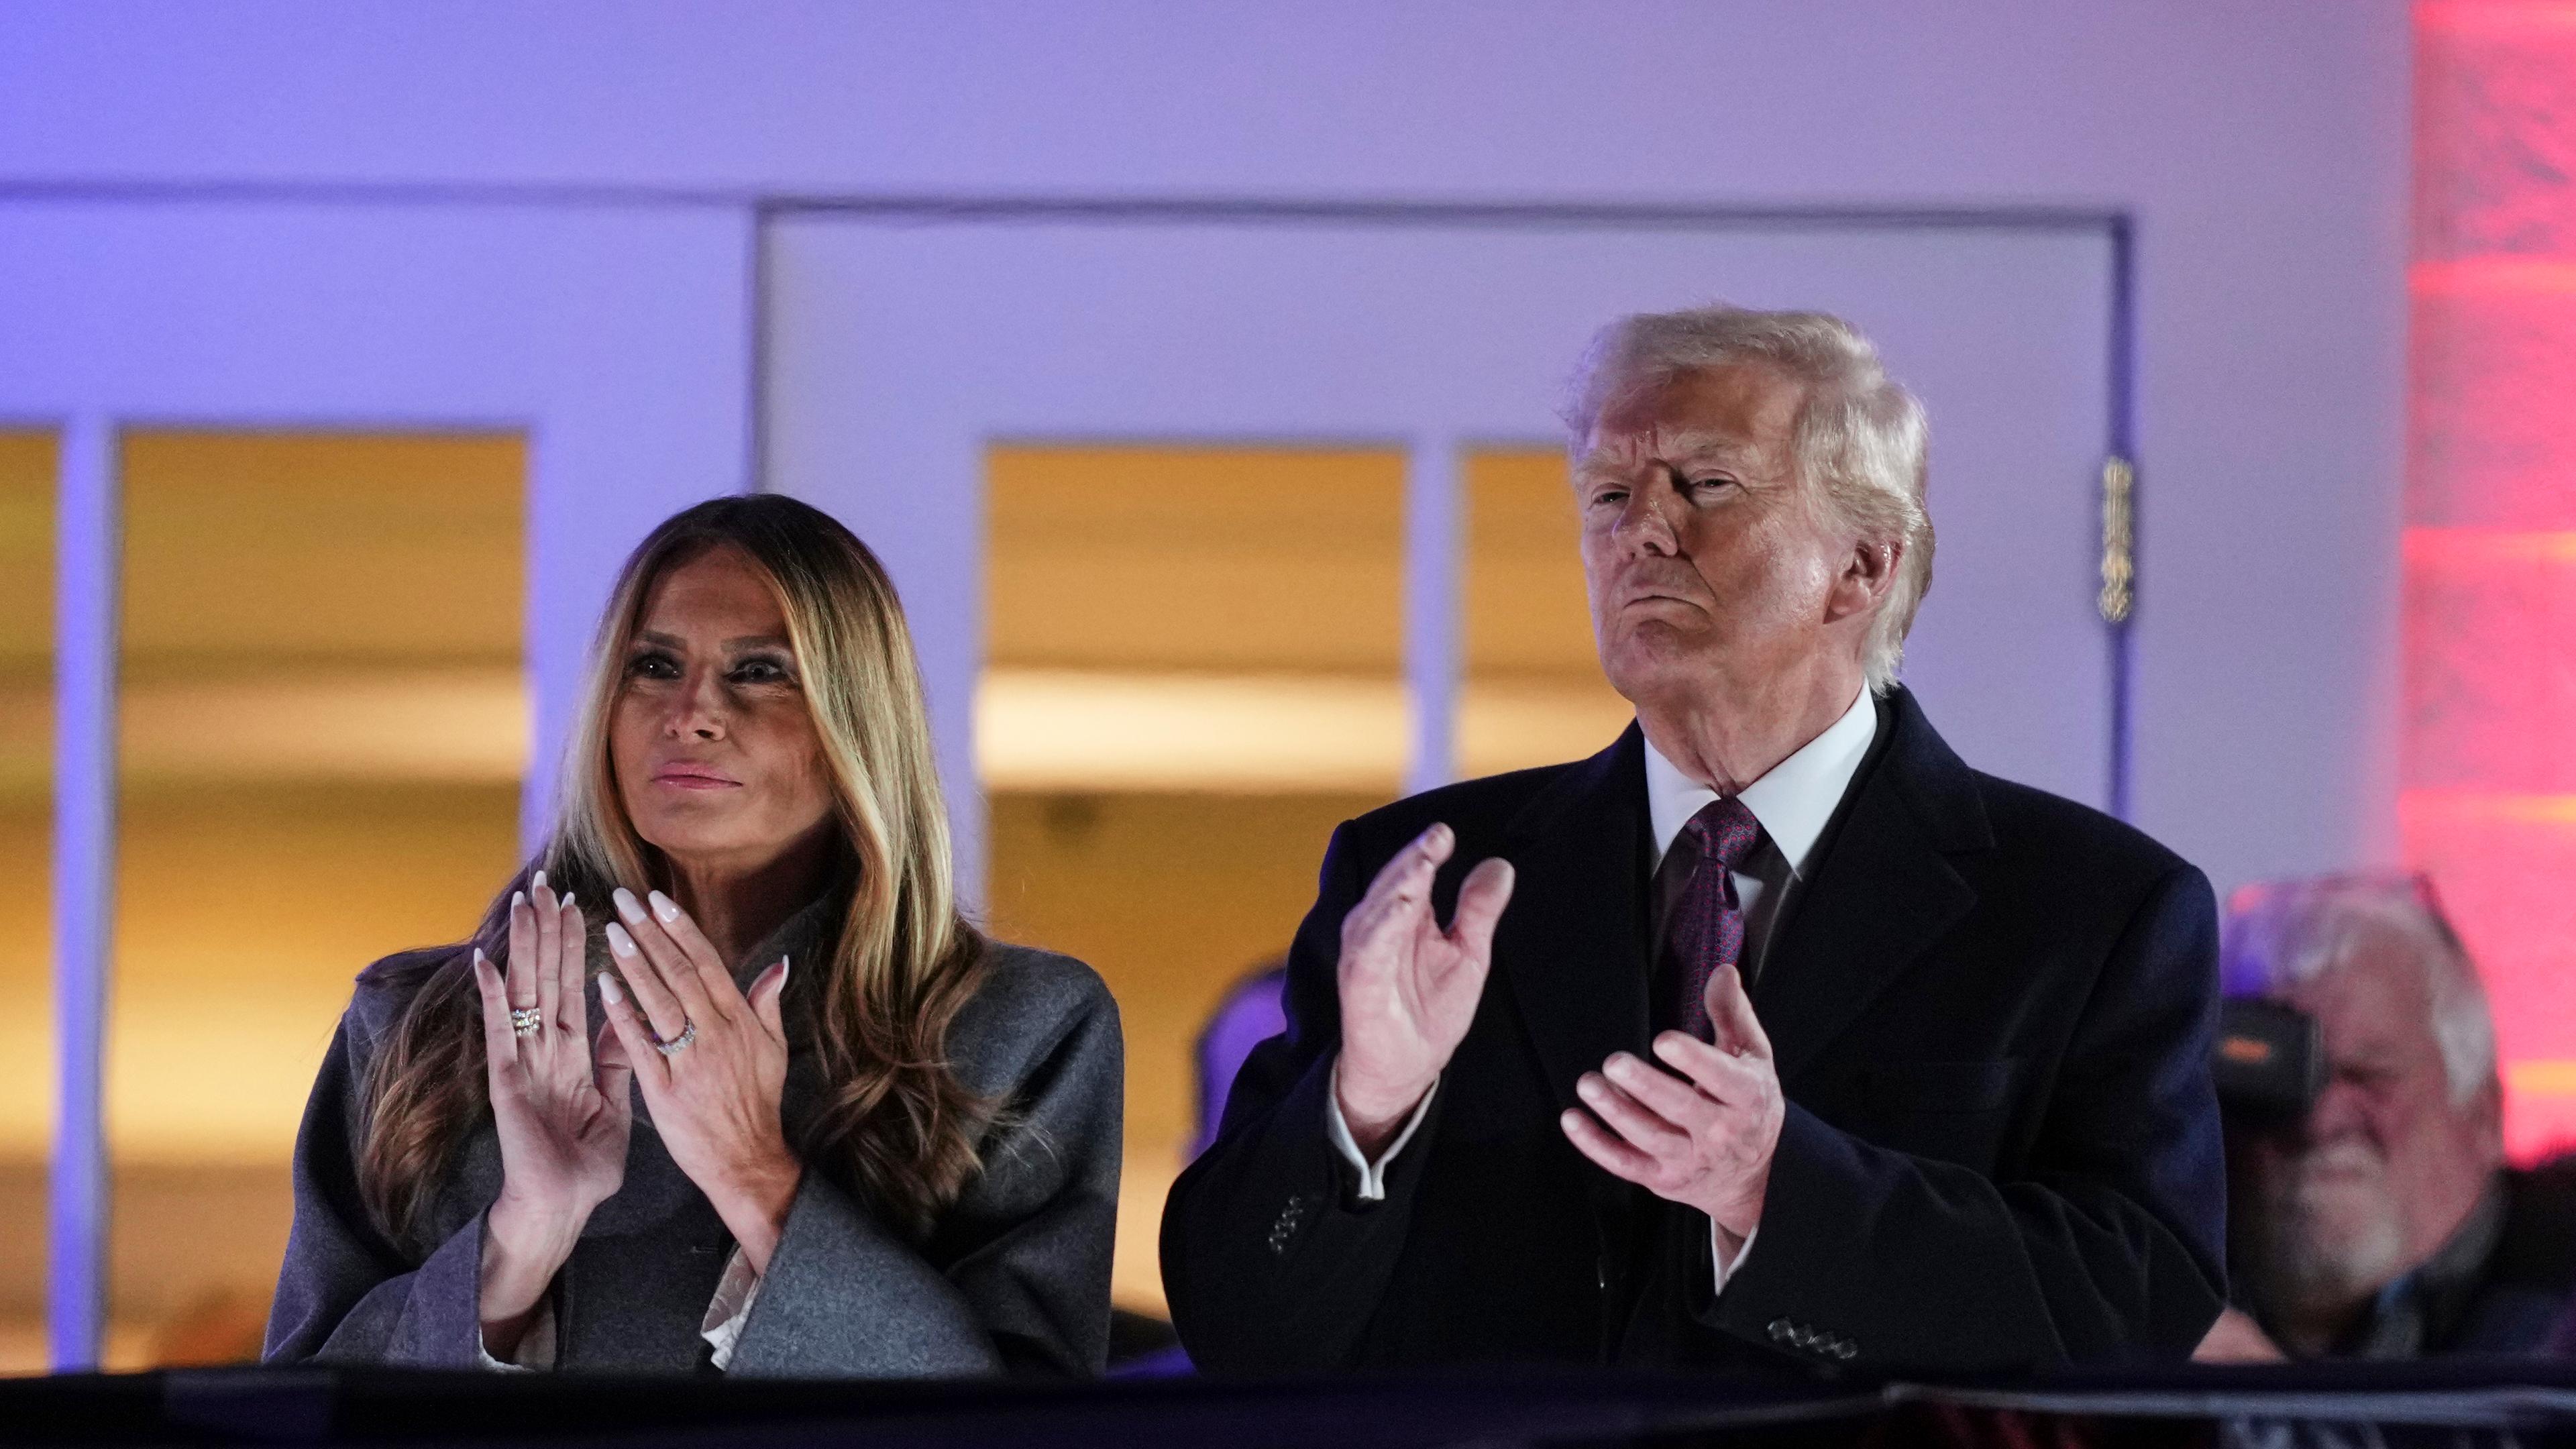
[[[1795,884],[1806,879],[1816,838],[1824,835],[1826,822],[1834,820],[1834,810],[1842,807],[1844,792],[1852,789],[1852,773],[1860,771],[1860,761],[1870,753],[1870,740],[1875,737],[1878,704],[1862,688],[1839,719],[1736,797],[1752,812],[1754,822],[1762,825],[1762,843],[1741,869],[1728,871],[1736,882],[1736,905],[1744,910],[1741,964],[1747,977],[1762,967],[1780,908],[1788,905]],[[1656,866],[1664,864],[1672,841],[1682,835],[1682,825],[1690,825],[1690,817],[1713,799],[1718,799],[1718,792],[1682,773],[1651,740],[1646,743],[1646,825],[1654,833]],[[1340,1062],[1334,1062],[1334,1085],[1340,1085]],[[1414,1129],[1422,1127],[1422,1116],[1430,1114],[1437,1091],[1440,1083],[1435,1080],[1432,1091],[1422,1093],[1422,1104],[1404,1119],[1404,1129],[1378,1152],[1376,1163],[1360,1155],[1350,1124],[1342,1122],[1340,1091],[1327,1098],[1324,1134],[1358,1173],[1360,1201],[1386,1196],[1386,1165],[1414,1140]],[[1754,1240],[1747,1235],[1734,1258],[1728,1258],[1718,1238],[1718,1225],[1710,1222],[1708,1243],[1718,1269],[1718,1292],[1726,1292],[1726,1279],[1744,1266],[1744,1256],[1752,1253]]]

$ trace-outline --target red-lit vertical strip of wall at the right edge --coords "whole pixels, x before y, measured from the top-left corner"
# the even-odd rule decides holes
[[[2506,1145],[2576,1145],[2576,5],[2414,10],[2398,820],[2496,1006]]]

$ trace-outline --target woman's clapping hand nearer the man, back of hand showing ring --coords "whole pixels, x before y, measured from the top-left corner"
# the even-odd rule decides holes
[[[760,972],[744,993],[675,900],[657,890],[647,905],[618,890],[613,902],[623,926],[608,923],[608,949],[629,990],[600,977],[608,1026],[636,1062],[644,1111],[670,1160],[716,1207],[752,1271],[765,1274],[804,1181],[778,1122],[788,1080],[778,995],[788,962]]]

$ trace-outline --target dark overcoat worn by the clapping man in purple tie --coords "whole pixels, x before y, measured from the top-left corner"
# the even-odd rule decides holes
[[[2179,1361],[2223,1302],[2210,884],[2138,830],[1978,773],[1914,696],[1752,982],[1788,1122],[1723,1294],[1708,1220],[1584,1160],[1574,1080],[1649,1044],[1643,740],[1345,822],[1162,1271],[1203,1369],[1461,1361],[1744,1374]],[[1517,884],[1430,1114],[1360,1201],[1327,1140],[1342,915],[1445,820],[1440,918]]]

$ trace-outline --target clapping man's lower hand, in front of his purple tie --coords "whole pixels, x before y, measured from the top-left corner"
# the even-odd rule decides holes
[[[1561,1124],[1607,1173],[1705,1212],[1734,1253],[1762,1222],[1788,1106],[1744,975],[1716,972],[1705,1000],[1716,1042],[1659,1034],[1654,1055],[1672,1070],[1613,1052],[1574,1083],[1600,1122],[1571,1106]]]

